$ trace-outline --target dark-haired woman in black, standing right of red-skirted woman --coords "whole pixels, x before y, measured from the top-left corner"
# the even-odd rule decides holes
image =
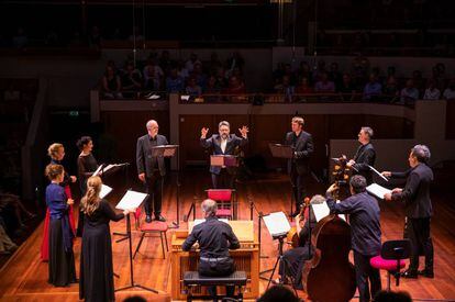
[[[80,150],[77,158],[77,170],[79,178],[80,195],[84,197],[87,192],[87,179],[98,169],[97,159],[95,159],[91,150],[93,149],[93,142],[90,136],[82,136],[77,142],[77,147]],[[81,237],[84,233],[84,212],[79,211],[79,219],[77,223],[76,235]]]

